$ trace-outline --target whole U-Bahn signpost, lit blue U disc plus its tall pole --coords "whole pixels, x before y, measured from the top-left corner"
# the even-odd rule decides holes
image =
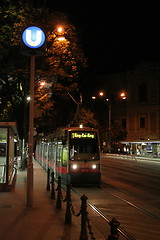
[[[30,105],[29,105],[29,160],[27,167],[27,207],[33,207],[33,130],[34,130],[34,75],[35,56],[43,55],[45,33],[36,26],[26,28],[22,33],[23,54],[30,56]]]

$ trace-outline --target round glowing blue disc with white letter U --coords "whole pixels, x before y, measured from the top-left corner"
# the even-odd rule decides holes
[[[40,48],[45,43],[45,34],[39,27],[31,26],[24,30],[22,40],[29,48]]]

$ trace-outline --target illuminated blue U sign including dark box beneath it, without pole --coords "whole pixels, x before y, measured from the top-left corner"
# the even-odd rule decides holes
[[[22,52],[24,55],[43,55],[46,36],[42,29],[36,26],[26,28],[22,33]]]

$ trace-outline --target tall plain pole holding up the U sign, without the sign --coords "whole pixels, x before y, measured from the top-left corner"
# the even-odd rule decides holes
[[[30,107],[29,107],[29,161],[27,168],[27,207],[33,207],[33,108],[34,108],[35,56],[30,62]]]

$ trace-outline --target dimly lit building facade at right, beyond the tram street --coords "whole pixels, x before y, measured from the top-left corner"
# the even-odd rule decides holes
[[[101,76],[100,79],[102,87],[114,95],[112,121],[118,121],[126,129],[126,144],[131,142],[144,144],[150,141],[156,142],[158,146],[160,63],[139,64],[130,71]],[[127,98],[123,101],[120,99],[120,91],[126,92]]]

